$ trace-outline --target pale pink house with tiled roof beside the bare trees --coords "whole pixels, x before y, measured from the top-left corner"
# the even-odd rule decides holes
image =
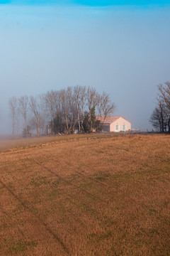
[[[131,122],[120,116],[96,116],[101,121],[103,132],[126,132],[131,130]]]

